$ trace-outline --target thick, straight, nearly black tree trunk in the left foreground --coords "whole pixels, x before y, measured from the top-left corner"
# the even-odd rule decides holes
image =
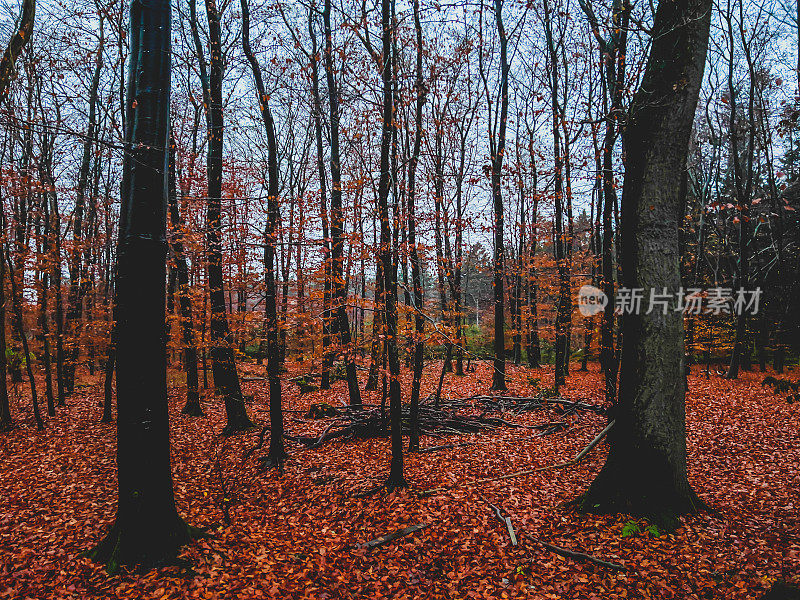
[[[117,264],[117,516],[86,555],[116,571],[173,559],[196,531],[178,515],[166,369],[169,0],[133,0]]]

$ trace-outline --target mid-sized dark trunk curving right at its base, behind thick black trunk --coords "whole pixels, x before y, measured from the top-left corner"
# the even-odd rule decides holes
[[[194,0],[190,3],[190,10]],[[194,13],[193,10],[191,10]],[[210,70],[208,80],[203,81],[203,95],[207,106],[208,155],[208,205],[206,210],[206,244],[208,252],[208,285],[211,304],[211,370],[214,373],[214,387],[225,402],[227,424],[223,433],[230,435],[253,427],[244,405],[239,374],[233,355],[233,339],[228,327],[225,307],[225,289],[222,277],[222,149],[223,149],[223,109],[222,109],[222,39],[220,14],[216,0],[206,0],[208,18]],[[205,60],[200,54],[196,18],[192,19],[195,46],[198,48],[200,62]],[[203,69],[205,70],[205,69]],[[202,77],[201,77],[202,78]]]

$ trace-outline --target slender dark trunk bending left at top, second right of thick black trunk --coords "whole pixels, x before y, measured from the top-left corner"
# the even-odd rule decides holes
[[[264,87],[261,67],[250,48],[250,7],[247,0],[242,4],[242,45],[250,63],[264,129],[267,134],[267,226],[264,230],[264,314],[267,327],[267,380],[269,381],[269,453],[264,461],[266,467],[282,468],[286,459],[283,446],[283,408],[281,405],[281,350],[278,336],[278,298],[275,286],[275,242],[278,229],[278,144],[275,123],[269,109],[269,96]],[[357,386],[356,386],[357,387]]]

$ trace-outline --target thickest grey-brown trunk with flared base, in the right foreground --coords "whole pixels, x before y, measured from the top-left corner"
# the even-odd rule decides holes
[[[681,181],[708,47],[711,0],[662,0],[650,56],[624,133],[623,284],[681,285]],[[616,424],[605,465],[578,500],[589,512],[622,512],[672,530],[702,504],[686,476],[683,316],[625,313]]]

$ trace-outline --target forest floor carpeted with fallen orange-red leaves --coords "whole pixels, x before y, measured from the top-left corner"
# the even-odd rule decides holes
[[[289,376],[302,372],[290,366]],[[244,374],[262,367],[243,365]],[[426,366],[423,398],[438,366]],[[362,373],[362,376],[364,374]],[[206,418],[181,415],[185,389],[171,374],[173,472],[179,511],[213,537],[187,546],[192,570],[165,567],[109,577],[78,555],[108,529],[116,502],[115,426],[101,424],[99,379],[85,376],[68,406],[38,433],[29,407],[12,407],[17,427],[0,434],[0,598],[758,598],[778,579],[800,577],[799,404],[760,385],[763,374],[737,381],[700,374],[689,378],[689,478],[719,514],[686,517],[672,535],[623,537],[625,516],[583,516],[564,507],[591,482],[605,460],[600,444],[578,465],[557,471],[456,487],[428,497],[417,492],[569,460],[603,429],[590,412],[562,416],[555,408],[504,415],[534,425],[567,420],[562,432],[538,437],[528,428],[424,437],[423,447],[448,441],[471,445],[406,455],[411,488],[356,498],[385,480],[386,439],[333,441],[317,449],[288,444],[283,474],[260,473],[258,457],[243,461],[258,430],[217,437],[220,402],[204,402]],[[410,373],[403,376],[410,380]],[[528,377],[552,385],[553,370],[509,367],[511,394],[529,395]],[[789,373],[796,379],[796,373]],[[487,393],[489,366],[467,377],[448,375],[445,397]],[[263,382],[250,381],[251,416],[268,419]],[[404,381],[404,395],[410,381]],[[284,386],[285,408],[342,405],[344,382],[300,396]],[[596,365],[577,365],[564,396],[599,403]],[[366,394],[377,403],[379,394]],[[287,431],[319,432],[324,422],[287,413]],[[296,420],[293,420],[296,419]],[[635,473],[631,473],[635,477]],[[223,492],[222,482],[227,489]],[[231,524],[220,510],[231,506]],[[519,536],[512,546],[488,503],[511,515]],[[381,547],[359,544],[418,523],[430,525]],[[628,524],[626,533],[633,527]],[[544,549],[535,540],[621,563],[614,571]]]

